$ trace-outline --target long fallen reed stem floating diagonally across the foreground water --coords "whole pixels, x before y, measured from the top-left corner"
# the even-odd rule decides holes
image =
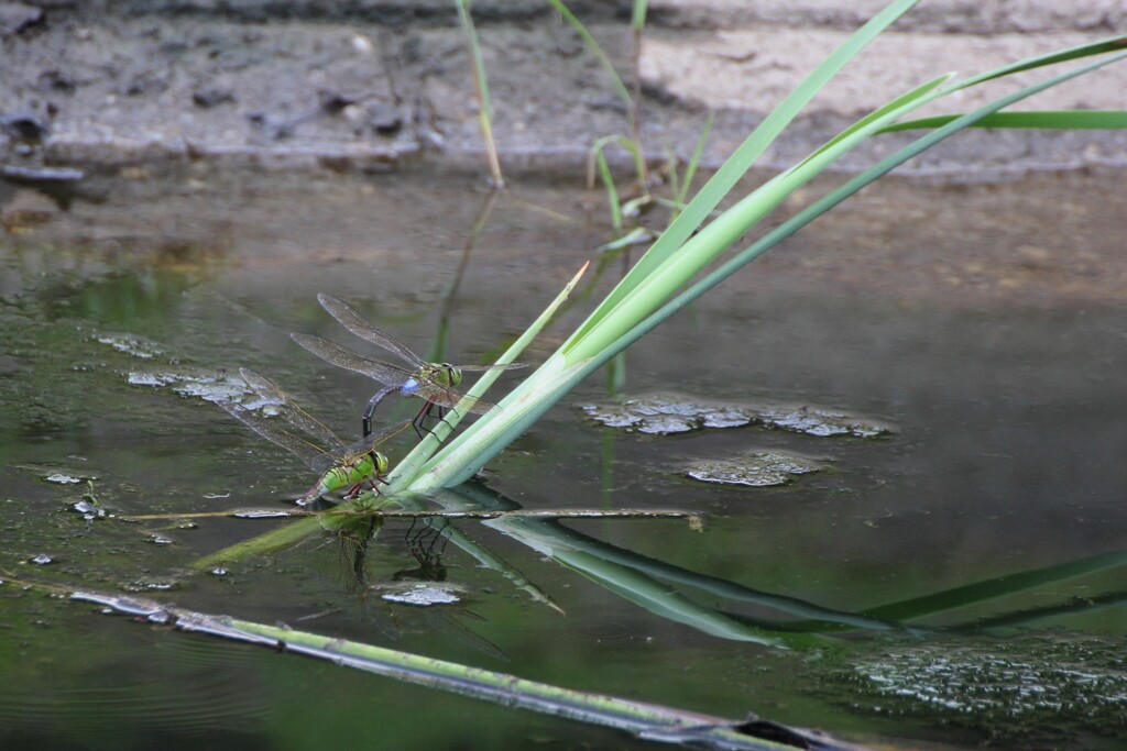
[[[170,625],[179,631],[268,646],[279,654],[328,660],[339,667],[407,683],[492,701],[505,707],[531,709],[575,722],[612,727],[649,740],[691,743],[694,748],[726,751],[787,751],[795,748],[849,751],[851,748],[820,733],[815,735],[774,723],[731,721],[604,694],[587,694],[360,642],[165,607],[151,600],[82,591],[72,591],[70,594],[76,600],[96,602],[117,613]],[[764,740],[756,736],[761,731],[772,739],[787,737],[791,742],[783,745],[774,740]],[[805,745],[798,746],[795,743]]]

